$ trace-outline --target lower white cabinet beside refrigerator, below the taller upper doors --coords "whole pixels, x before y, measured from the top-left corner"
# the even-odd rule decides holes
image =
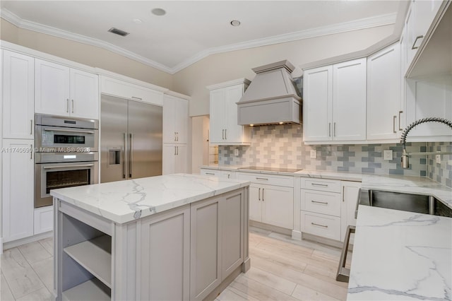
[[[187,172],[186,144],[163,144],[162,175]]]

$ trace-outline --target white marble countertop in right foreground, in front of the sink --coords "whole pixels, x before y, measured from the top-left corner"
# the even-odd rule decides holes
[[[452,218],[359,206],[347,300],[451,300]]]

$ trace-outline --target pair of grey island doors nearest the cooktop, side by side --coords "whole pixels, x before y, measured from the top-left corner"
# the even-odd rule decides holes
[[[244,210],[240,191],[191,206],[190,300],[203,300],[244,261]]]

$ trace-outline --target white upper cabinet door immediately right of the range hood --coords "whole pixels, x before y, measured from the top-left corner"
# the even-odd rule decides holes
[[[333,66],[304,71],[303,87],[303,139],[330,141]]]

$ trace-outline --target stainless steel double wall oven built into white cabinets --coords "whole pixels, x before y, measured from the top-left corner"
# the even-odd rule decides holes
[[[99,182],[99,122],[35,115],[35,208],[52,205],[51,189]]]

